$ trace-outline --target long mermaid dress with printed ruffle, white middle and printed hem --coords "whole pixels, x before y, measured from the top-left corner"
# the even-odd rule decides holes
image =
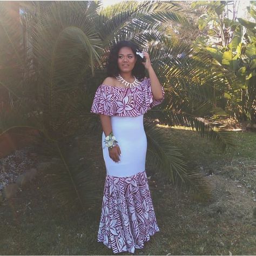
[[[164,95],[163,86],[161,89]],[[106,179],[97,241],[113,253],[134,253],[159,232],[145,170],[147,139],[143,115],[163,99],[153,99],[149,78],[132,88],[101,84],[93,99],[91,113],[110,116],[122,154],[119,163],[109,157],[103,132]]]

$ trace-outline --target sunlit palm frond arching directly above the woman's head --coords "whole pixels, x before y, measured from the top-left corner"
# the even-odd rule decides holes
[[[99,35],[103,45],[134,38],[138,33],[157,31],[161,23],[187,23],[182,8],[171,2],[122,2],[99,12]],[[163,26],[161,26],[163,29]],[[144,42],[145,44],[145,42]]]

